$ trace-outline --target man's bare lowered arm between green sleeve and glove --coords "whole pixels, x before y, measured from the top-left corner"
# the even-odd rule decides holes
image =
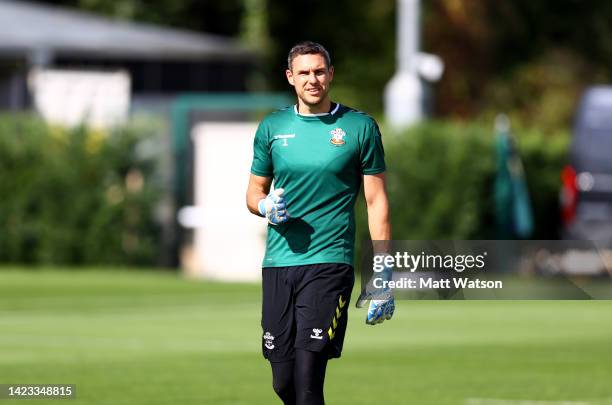
[[[389,200],[385,187],[385,174],[363,176],[363,191],[368,207],[368,226],[373,241],[391,239],[391,222],[389,220]],[[388,252],[388,243],[375,242],[374,253]]]

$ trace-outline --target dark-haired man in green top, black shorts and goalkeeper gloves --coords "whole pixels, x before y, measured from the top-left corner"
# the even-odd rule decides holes
[[[325,48],[299,43],[287,62],[298,102],[259,125],[247,190],[249,210],[269,222],[262,349],[284,404],[323,404],[327,361],[340,357],[355,280],[362,178],[372,240],[391,237],[385,162],[376,122],[330,100],[334,68]],[[371,300],[366,321],[390,319],[393,308],[392,297]]]

